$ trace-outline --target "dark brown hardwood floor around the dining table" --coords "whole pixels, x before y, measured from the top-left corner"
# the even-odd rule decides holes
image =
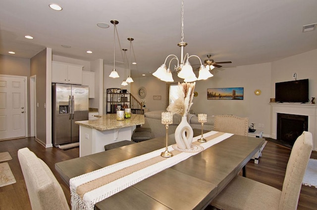
[[[38,157],[43,159],[53,171],[60,183],[67,202],[70,205],[70,191],[67,185],[61,180],[54,168],[56,162],[79,157],[79,149],[60,150],[57,148],[44,148],[34,138],[22,138],[15,140],[0,141],[0,152],[9,152],[12,159],[8,162],[16,179],[15,184],[0,187],[0,210],[31,210],[23,174],[17,157],[17,151],[28,147]],[[250,160],[247,164],[247,177],[282,189],[283,179],[287,161],[291,150],[268,142],[260,157],[259,164]],[[312,153],[311,158],[317,159],[317,153]],[[261,194],[261,192],[259,192]],[[298,210],[317,209],[317,188],[302,186],[299,198]]]

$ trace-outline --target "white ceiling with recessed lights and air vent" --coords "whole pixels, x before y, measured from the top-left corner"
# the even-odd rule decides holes
[[[52,10],[52,2],[63,10]],[[202,61],[207,54],[216,62],[232,61],[222,68],[317,49],[317,30],[302,32],[317,23],[317,0],[185,0],[184,10],[185,52]],[[138,64],[131,65],[132,76],[156,71],[168,54],[180,56],[181,0],[0,0],[0,54],[31,58],[52,48],[55,55],[113,63],[113,19],[122,48],[129,50],[127,38],[134,38]],[[119,51],[116,60],[122,61]]]

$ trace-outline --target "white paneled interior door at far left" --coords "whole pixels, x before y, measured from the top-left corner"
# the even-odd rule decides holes
[[[0,76],[0,139],[25,136],[25,78]]]

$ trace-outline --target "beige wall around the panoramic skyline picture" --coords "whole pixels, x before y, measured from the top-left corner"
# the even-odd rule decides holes
[[[270,63],[219,68],[212,71],[213,77],[197,81],[192,109],[195,113],[207,115],[232,114],[248,117],[249,124],[255,123],[255,129],[264,130],[270,134]],[[208,100],[208,88],[244,88],[243,100]],[[261,90],[261,95],[255,95],[255,90]],[[259,127],[262,124],[263,127]]]

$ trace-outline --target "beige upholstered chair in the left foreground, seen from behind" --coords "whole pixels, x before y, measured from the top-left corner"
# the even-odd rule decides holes
[[[69,210],[65,195],[49,166],[28,148],[18,150],[32,210]]]

